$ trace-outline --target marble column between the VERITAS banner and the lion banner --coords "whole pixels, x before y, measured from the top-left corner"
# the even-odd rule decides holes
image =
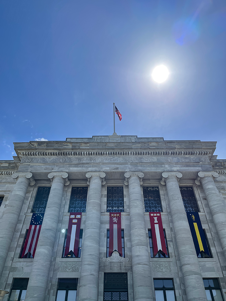
[[[97,301],[100,257],[101,185],[105,185],[104,172],[88,172],[89,194],[83,236],[79,301]]]

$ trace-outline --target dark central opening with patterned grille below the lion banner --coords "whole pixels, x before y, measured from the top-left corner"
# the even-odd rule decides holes
[[[127,273],[104,273],[104,301],[128,301]]]

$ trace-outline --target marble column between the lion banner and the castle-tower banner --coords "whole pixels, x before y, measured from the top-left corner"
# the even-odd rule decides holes
[[[126,172],[129,185],[130,233],[134,301],[153,301],[147,231],[141,193],[143,172]]]

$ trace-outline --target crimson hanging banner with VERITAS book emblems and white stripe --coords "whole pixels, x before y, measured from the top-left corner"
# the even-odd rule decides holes
[[[71,251],[75,257],[78,257],[78,244],[79,244],[79,233],[81,226],[81,212],[71,212],[69,215],[68,229],[67,229],[67,240],[64,257],[67,257]]]

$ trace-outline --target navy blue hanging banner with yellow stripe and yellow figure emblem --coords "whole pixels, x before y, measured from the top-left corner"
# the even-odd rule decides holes
[[[201,251],[210,256],[198,212],[187,212],[187,219],[197,256]]]

